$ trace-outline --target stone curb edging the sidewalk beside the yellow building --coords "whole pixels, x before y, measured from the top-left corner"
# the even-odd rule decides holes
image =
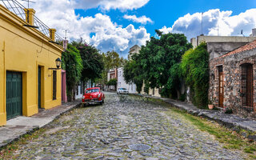
[[[18,141],[20,138],[22,138],[26,134],[33,134],[36,130],[39,130],[40,128],[47,126],[48,124],[50,124],[50,122],[53,122],[55,119],[58,119],[63,114],[66,114],[70,110],[74,110],[75,108],[78,108],[79,106],[81,106],[81,102],[71,105],[66,110],[61,110],[58,114],[54,115],[53,118],[49,122],[46,122],[46,124],[44,124],[43,126],[32,126],[30,128],[27,128],[26,130],[23,130],[22,133],[18,134],[16,137],[10,138],[10,139],[6,140],[5,142],[0,142],[0,150],[2,150],[5,146],[9,145],[12,142]]]

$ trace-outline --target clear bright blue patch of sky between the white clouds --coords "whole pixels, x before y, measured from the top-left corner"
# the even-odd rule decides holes
[[[196,12],[206,12],[211,9],[232,10],[233,15],[240,14],[246,10],[256,8],[255,0],[151,0],[138,10],[101,10],[99,7],[89,10],[75,10],[75,14],[83,17],[94,16],[97,13],[107,14],[113,22],[118,25],[128,26],[132,23],[135,28],[145,26],[151,36],[154,36],[154,30],[161,29],[162,26],[172,26],[174,22],[185,14],[194,14]],[[153,24],[142,25],[136,22],[130,22],[123,18],[124,14],[137,15],[151,18]]]

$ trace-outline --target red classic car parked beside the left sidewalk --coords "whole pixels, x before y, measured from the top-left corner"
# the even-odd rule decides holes
[[[82,104],[96,104],[102,105],[104,103],[105,95],[101,92],[99,87],[86,89],[85,94],[82,96]]]

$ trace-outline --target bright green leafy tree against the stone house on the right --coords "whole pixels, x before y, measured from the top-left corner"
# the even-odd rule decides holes
[[[186,85],[190,86],[194,94],[194,105],[205,108],[209,90],[209,53],[205,42],[194,50],[186,51],[182,56],[181,70],[186,78]]]

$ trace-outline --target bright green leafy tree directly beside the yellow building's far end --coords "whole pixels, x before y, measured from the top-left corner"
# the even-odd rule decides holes
[[[62,69],[66,70],[66,94],[68,101],[74,99],[74,87],[81,78],[82,58],[75,46],[68,44],[62,52]]]

